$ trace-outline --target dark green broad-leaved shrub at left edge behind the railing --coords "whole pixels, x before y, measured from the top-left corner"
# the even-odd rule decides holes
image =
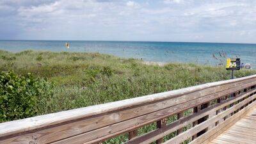
[[[52,84],[31,74],[0,73],[0,122],[35,116],[44,99],[51,97]],[[41,106],[39,106],[41,105]]]

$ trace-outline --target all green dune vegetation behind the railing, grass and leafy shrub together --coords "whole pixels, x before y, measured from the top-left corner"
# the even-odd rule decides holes
[[[19,76],[9,72],[10,70]],[[8,109],[1,111],[1,121],[130,99],[230,78],[230,72],[224,67],[182,63],[169,63],[161,67],[145,65],[140,60],[82,52],[0,51],[0,71],[1,109]],[[35,77],[28,76],[28,73]],[[256,74],[256,71],[235,72],[236,77],[252,74]],[[11,78],[6,78],[8,76]],[[10,83],[6,80],[3,82],[2,79],[8,79]],[[8,103],[10,100],[16,103]],[[19,111],[11,113],[15,109],[13,106],[20,105],[21,102],[25,106],[22,109],[16,108]],[[31,108],[35,111],[31,111]],[[26,109],[29,109],[28,115]],[[154,126],[148,126],[141,132],[152,128]],[[126,136],[120,136],[109,142],[120,143],[125,138]]]

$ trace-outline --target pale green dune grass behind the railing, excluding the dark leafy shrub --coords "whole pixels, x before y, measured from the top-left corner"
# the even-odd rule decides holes
[[[132,58],[85,52],[0,51],[0,70],[13,70],[19,75],[31,73],[54,83],[54,94],[47,97],[45,106],[39,106],[36,115],[230,79],[230,71],[223,66],[193,63],[147,65]],[[252,74],[256,71],[239,70],[234,76]],[[140,134],[154,127],[143,127]],[[125,140],[127,134],[107,142],[121,143]]]

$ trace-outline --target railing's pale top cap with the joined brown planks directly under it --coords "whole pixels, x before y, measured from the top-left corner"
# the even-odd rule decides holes
[[[256,84],[256,75],[0,124],[0,143],[92,143]]]

